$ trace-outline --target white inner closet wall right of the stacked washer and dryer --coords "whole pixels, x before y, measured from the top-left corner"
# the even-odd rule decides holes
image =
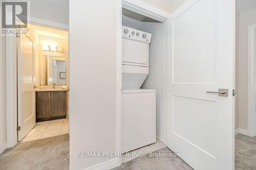
[[[165,142],[164,119],[164,25],[163,23],[145,23],[142,30],[152,34],[150,43],[149,74],[142,88],[156,89],[157,137]]]

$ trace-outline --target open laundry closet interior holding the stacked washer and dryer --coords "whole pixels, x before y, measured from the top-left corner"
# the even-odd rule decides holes
[[[164,23],[122,8],[122,151],[165,141]]]

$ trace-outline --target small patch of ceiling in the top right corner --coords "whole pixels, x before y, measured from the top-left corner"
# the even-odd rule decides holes
[[[256,0],[236,0],[236,11],[238,13],[245,12],[252,8],[256,8]]]

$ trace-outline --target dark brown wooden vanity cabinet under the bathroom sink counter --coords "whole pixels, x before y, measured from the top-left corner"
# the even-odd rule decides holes
[[[36,122],[66,118],[66,91],[36,91]]]

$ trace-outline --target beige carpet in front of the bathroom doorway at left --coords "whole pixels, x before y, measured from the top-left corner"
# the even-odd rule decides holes
[[[0,169],[69,169],[69,135],[18,143],[0,155]]]

